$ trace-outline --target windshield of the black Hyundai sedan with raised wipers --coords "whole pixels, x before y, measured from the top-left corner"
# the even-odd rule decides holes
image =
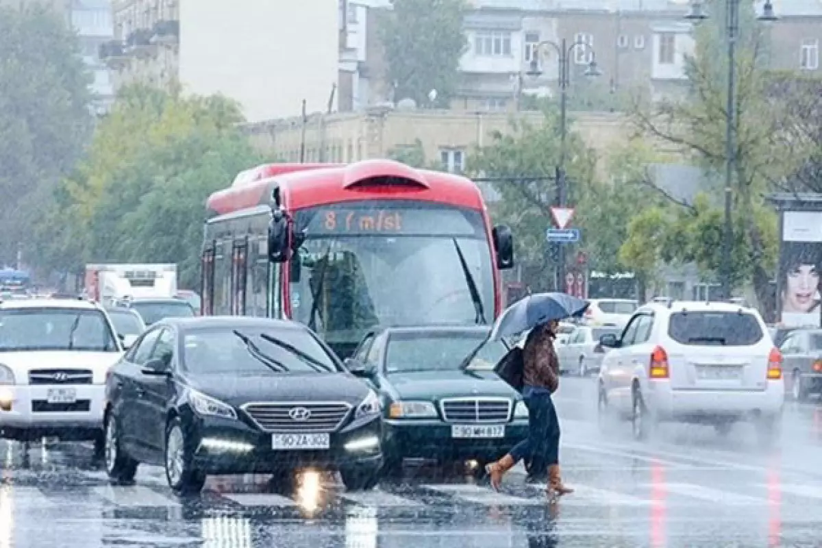
[[[183,369],[196,375],[340,371],[316,338],[302,329],[202,329],[185,334],[183,345]]]

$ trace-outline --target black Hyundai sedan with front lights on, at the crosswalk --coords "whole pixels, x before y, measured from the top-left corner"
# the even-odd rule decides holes
[[[109,373],[104,415],[109,477],[165,467],[172,490],[207,474],[339,470],[371,489],[381,468],[376,394],[301,324],[257,318],[157,322]]]

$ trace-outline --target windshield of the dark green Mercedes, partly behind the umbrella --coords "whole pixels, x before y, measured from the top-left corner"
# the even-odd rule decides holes
[[[485,341],[485,334],[399,333],[392,334],[386,352],[386,373],[457,371],[462,361]],[[469,368],[492,369],[506,355],[499,341],[483,345]]]

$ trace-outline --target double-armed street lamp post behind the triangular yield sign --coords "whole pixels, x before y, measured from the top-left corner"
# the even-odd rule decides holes
[[[546,46],[550,46],[556,50],[557,65],[559,69],[559,86],[560,86],[560,158],[556,165],[556,205],[558,207],[565,207],[567,203],[567,184],[565,172],[566,160],[566,137],[568,134],[567,128],[567,108],[568,108],[568,87],[570,86],[570,55],[576,48],[584,48],[591,54],[591,61],[588,63],[588,68],[585,70],[585,76],[601,76],[596,61],[596,53],[593,48],[584,42],[567,43],[566,39],[562,39],[560,44],[556,44],[552,40],[545,40],[537,44],[534,48],[533,57],[529,66],[528,76],[542,76],[543,71],[539,68],[540,52]],[[555,287],[557,291],[561,291],[562,280],[566,277],[566,250],[563,244],[559,244],[557,250],[557,267]]]

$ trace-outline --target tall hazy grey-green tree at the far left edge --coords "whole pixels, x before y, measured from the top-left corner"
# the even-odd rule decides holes
[[[82,153],[90,81],[65,21],[45,7],[0,7],[0,259],[31,242],[42,201]]]

